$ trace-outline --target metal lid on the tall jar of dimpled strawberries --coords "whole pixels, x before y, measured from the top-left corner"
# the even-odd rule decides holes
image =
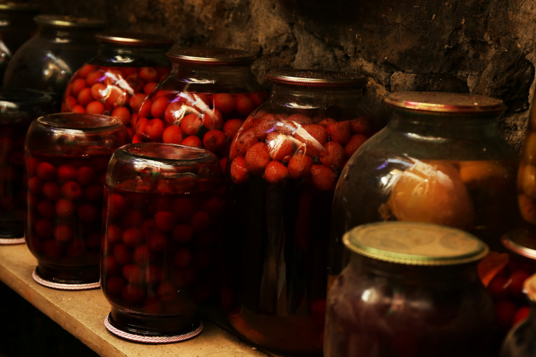
[[[274,83],[323,88],[362,88],[368,78],[351,72],[322,70],[277,70],[267,75]]]

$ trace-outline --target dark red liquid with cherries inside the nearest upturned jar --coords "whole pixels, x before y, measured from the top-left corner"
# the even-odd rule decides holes
[[[221,190],[107,196],[101,286],[113,323],[158,336],[192,331],[217,282]]]

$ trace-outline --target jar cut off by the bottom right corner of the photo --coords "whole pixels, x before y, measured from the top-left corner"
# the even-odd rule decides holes
[[[536,275],[524,283],[523,291],[530,304],[530,313],[526,319],[518,322],[508,332],[501,346],[499,357],[535,357],[536,342]]]

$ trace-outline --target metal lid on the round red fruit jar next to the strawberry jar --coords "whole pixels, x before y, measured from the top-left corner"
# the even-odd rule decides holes
[[[232,48],[189,47],[172,48],[167,53],[174,63],[189,63],[202,65],[241,65],[251,64],[255,56],[245,51]]]

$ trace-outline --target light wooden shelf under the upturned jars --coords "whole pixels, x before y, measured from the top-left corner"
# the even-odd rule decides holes
[[[148,345],[116,337],[104,326],[110,305],[100,289],[59,291],[37,284],[37,261],[25,244],[0,246],[0,280],[101,356],[265,357],[206,318],[199,336],[180,343]],[[271,355],[271,354],[269,354]]]

